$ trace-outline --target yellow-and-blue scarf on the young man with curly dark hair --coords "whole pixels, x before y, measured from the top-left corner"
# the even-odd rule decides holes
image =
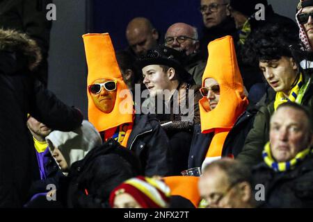
[[[282,92],[276,93],[276,98],[274,102],[274,109],[277,110],[278,106],[282,103],[286,102],[294,102],[301,104],[303,96],[305,94],[305,91],[310,83],[310,80],[307,81],[307,83],[303,84],[303,75],[300,74],[300,78],[298,80],[298,83],[291,89],[291,92],[289,94],[289,97],[286,98]]]

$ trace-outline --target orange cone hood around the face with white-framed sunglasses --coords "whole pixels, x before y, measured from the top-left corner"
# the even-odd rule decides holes
[[[99,131],[114,128],[123,123],[133,122],[133,101],[131,93],[122,80],[122,74],[115,58],[115,51],[109,33],[83,35],[86,60],[88,65],[87,95],[88,119]],[[110,113],[99,110],[88,92],[88,85],[99,78],[117,80],[115,105]],[[127,138],[130,131],[127,130]],[[123,140],[124,144],[125,139]],[[127,142],[127,140],[126,140]]]

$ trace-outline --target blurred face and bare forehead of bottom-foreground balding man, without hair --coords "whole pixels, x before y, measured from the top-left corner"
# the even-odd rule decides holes
[[[218,168],[204,172],[199,180],[200,196],[206,200],[209,208],[248,207],[250,194],[243,194],[239,186],[240,183],[230,185],[225,172]]]

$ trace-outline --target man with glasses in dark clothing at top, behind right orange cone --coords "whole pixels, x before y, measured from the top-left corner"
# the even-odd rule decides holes
[[[202,58],[207,60],[207,44],[225,35],[236,39],[236,26],[227,10],[230,0],[201,0],[200,12],[204,24],[203,37],[200,40]]]

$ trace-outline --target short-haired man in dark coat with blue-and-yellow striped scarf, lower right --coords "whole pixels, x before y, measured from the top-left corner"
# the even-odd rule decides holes
[[[313,207],[311,111],[283,103],[272,115],[263,162],[252,170],[252,184],[264,186],[257,207]]]

